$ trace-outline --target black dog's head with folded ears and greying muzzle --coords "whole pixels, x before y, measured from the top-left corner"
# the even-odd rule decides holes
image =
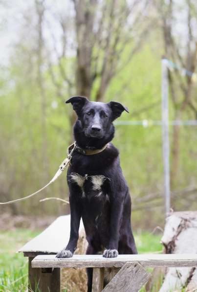
[[[109,103],[89,101],[84,96],[73,96],[66,103],[71,103],[73,110],[81,121],[85,136],[92,138],[103,138],[110,129],[112,122],[121,115],[123,111],[129,112],[119,102]]]

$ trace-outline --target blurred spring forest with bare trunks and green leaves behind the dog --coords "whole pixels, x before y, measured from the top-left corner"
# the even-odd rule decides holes
[[[75,116],[65,100],[118,101],[114,144],[129,183],[134,226],[163,225],[161,56],[194,72],[196,0],[0,0],[0,202],[43,187],[66,157]],[[170,119],[197,119],[197,80],[169,71]],[[197,209],[197,128],[170,127],[174,210]],[[69,207],[66,172],[36,197],[0,207],[59,216]]]

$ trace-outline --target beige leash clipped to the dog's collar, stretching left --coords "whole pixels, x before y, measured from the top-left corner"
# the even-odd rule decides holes
[[[11,203],[14,203],[14,202],[19,202],[19,201],[23,201],[23,200],[26,200],[26,199],[29,199],[33,196],[35,196],[36,194],[40,193],[42,190],[44,190],[49,184],[51,184],[52,182],[54,182],[55,180],[57,180],[57,178],[63,173],[63,171],[66,169],[66,166],[68,166],[71,158],[72,158],[72,153],[73,151],[75,150],[76,148],[76,141],[71,144],[70,146],[68,146],[67,148],[67,157],[65,158],[65,160],[60,164],[59,166],[59,169],[58,171],[56,172],[56,174],[54,175],[54,177],[52,178],[52,180],[50,180],[43,188],[41,188],[40,190],[38,190],[37,192],[27,196],[27,197],[24,197],[24,198],[20,198],[20,199],[17,199],[17,200],[13,200],[13,201],[9,201],[9,202],[0,202],[0,205],[5,205],[5,204],[11,204]],[[73,147],[70,152],[69,152],[69,149]]]

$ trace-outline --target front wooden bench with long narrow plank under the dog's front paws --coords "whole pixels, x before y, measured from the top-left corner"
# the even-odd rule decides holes
[[[42,292],[57,291],[51,288],[51,276],[46,276],[47,271],[53,273],[53,269],[90,267],[93,268],[92,292],[137,292],[151,276],[146,268],[197,267],[197,254],[136,254],[109,259],[102,255],[74,255],[67,259],[39,255],[32,260],[31,265],[39,275],[37,281]],[[117,273],[103,289],[104,268],[116,269]],[[44,290],[46,288],[48,290]]]

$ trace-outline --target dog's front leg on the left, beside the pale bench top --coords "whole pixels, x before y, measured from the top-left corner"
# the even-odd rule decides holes
[[[70,202],[70,239],[63,250],[59,251],[56,255],[57,258],[69,258],[73,256],[73,253],[77,247],[77,241],[79,238],[79,225],[81,220],[81,208],[80,203],[74,196],[69,197]]]

